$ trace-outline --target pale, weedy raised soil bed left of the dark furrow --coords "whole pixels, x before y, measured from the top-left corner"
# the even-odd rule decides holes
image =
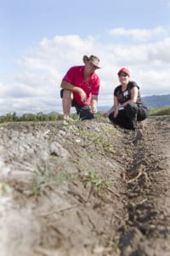
[[[121,132],[95,121],[14,123],[0,139],[1,181],[12,189],[1,198],[2,255],[118,252]]]

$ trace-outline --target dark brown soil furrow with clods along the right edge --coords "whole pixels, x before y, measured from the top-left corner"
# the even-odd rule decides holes
[[[127,168],[127,177],[132,180],[127,181],[131,195],[127,203],[128,221],[120,238],[123,256],[170,255],[168,128],[168,118],[147,119],[143,137],[131,148]]]

